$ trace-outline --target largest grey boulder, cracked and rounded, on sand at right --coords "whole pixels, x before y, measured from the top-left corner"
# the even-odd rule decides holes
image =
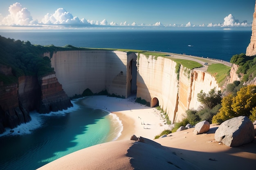
[[[224,121],[215,132],[215,140],[230,147],[248,144],[254,140],[254,126],[246,116]]]

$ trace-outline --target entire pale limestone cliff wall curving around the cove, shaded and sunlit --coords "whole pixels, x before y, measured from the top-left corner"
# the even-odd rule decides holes
[[[81,95],[86,88],[93,93],[107,90],[121,97],[137,91],[137,97],[151,107],[161,106],[172,123],[181,121],[187,109],[200,106],[197,94],[201,90],[219,90],[213,76],[182,65],[177,79],[176,62],[165,57],[106,50],[57,51],[51,62],[69,97]]]

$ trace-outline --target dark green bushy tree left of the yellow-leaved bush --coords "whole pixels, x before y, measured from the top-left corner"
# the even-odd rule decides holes
[[[202,90],[197,95],[198,102],[212,109],[217,104],[221,103],[222,93],[221,91],[216,91],[215,88],[211,89],[208,94],[204,93]]]

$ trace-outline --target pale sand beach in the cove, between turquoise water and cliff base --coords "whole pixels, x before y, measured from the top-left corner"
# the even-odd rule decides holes
[[[120,99],[117,97],[91,96],[83,100],[90,107],[102,108],[116,114],[124,126],[117,140],[130,139],[132,135],[154,139],[169,126],[159,110],[134,102],[136,96]]]

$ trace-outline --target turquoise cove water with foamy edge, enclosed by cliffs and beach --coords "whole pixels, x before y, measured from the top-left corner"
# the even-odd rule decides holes
[[[117,116],[85,107],[81,101],[63,112],[31,113],[31,122],[1,136],[0,169],[34,170],[77,150],[115,140],[122,129]]]

